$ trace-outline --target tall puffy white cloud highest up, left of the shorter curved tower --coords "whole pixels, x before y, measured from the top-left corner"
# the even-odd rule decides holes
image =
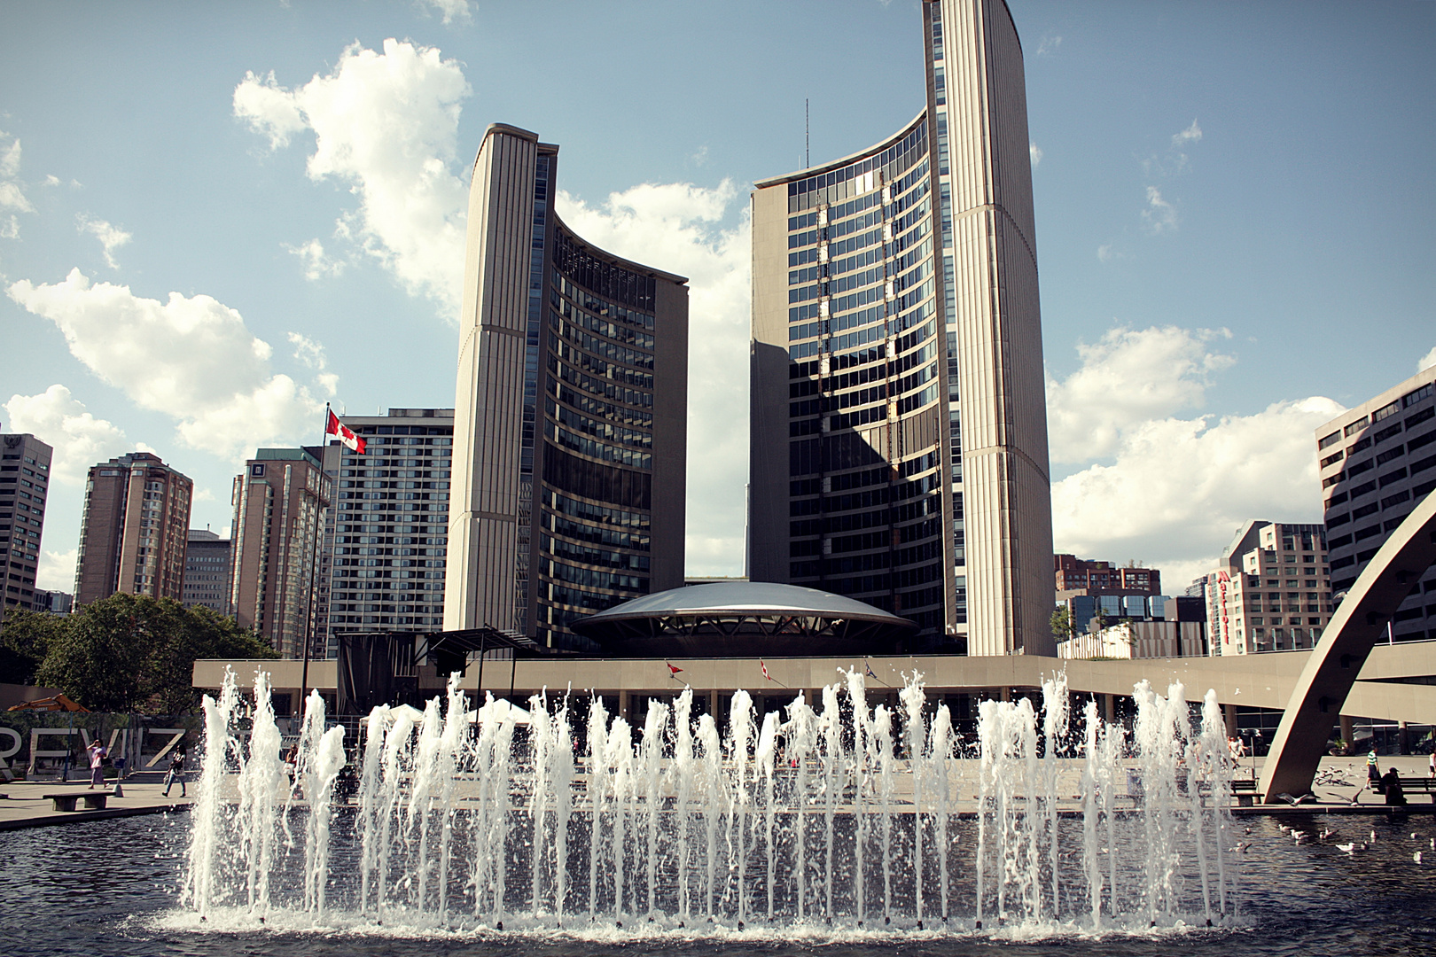
[[[327,76],[293,90],[273,73],[246,73],[234,89],[234,115],[269,136],[273,149],[312,129],[310,179],[333,176],[359,199],[336,235],[356,241],[409,294],[432,298],[454,319],[468,189],[451,165],[470,92],[458,63],[391,39],[383,53],[349,46]]]

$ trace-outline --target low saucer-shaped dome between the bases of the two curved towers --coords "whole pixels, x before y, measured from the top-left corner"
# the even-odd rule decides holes
[[[570,626],[616,657],[892,654],[918,626],[870,604],[771,581],[724,581],[625,601]]]

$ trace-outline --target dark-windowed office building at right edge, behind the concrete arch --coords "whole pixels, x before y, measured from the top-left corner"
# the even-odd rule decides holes
[[[1436,488],[1436,366],[1317,429],[1331,588],[1357,575],[1416,504]],[[1436,638],[1436,567],[1391,616],[1396,641]]]

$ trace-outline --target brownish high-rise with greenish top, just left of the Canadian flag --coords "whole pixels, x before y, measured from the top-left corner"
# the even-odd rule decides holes
[[[230,611],[281,657],[325,657],[319,554],[330,479],[307,449],[258,449],[234,479]]]

